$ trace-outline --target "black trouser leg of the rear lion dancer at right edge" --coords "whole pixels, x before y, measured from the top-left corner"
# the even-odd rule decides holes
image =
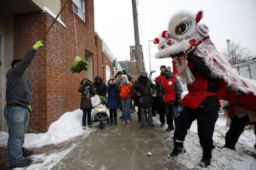
[[[246,121],[248,120],[248,115],[243,116],[241,118],[234,116],[230,128],[226,133],[225,142],[228,146],[236,146],[238,138],[245,129]]]

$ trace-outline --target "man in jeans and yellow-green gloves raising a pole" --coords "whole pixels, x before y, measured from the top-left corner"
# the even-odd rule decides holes
[[[14,59],[11,69],[6,74],[6,107],[4,115],[9,128],[8,156],[9,167],[27,167],[31,159],[24,157],[33,154],[25,150],[24,134],[27,133],[30,118],[31,86],[28,82],[26,71],[35,56],[36,50],[41,48],[44,41],[37,41],[23,59]]]

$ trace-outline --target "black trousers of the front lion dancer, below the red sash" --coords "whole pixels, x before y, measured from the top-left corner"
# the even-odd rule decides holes
[[[191,127],[194,120],[197,120],[197,133],[200,146],[209,150],[214,148],[213,131],[218,118],[218,111],[205,111],[203,109],[191,109],[184,107],[177,117],[174,139],[184,141],[187,130]]]

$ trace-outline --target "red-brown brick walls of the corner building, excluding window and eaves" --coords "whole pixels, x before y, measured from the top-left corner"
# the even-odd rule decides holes
[[[70,67],[76,56],[85,57],[85,51],[92,53],[93,75],[97,75],[93,0],[85,2],[85,22],[75,15],[77,50],[72,1],[69,1],[61,13],[61,20],[67,28],[57,22],[53,25],[44,47],[38,50],[28,69],[27,76],[33,89],[30,132],[45,132],[63,113],[79,108],[80,94],[77,89],[84,71],[71,73]],[[51,16],[41,11],[15,15],[14,58],[22,58],[40,40],[52,21]]]

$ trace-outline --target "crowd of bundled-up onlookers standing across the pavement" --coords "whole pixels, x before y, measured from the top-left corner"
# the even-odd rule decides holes
[[[146,71],[142,71],[137,80],[133,82],[132,76],[127,74],[125,70],[118,71],[113,78],[108,80],[107,84],[98,75],[94,83],[88,79],[82,79],[78,91],[82,94],[80,109],[83,112],[83,129],[86,129],[86,116],[88,127],[92,127],[89,110],[93,107],[90,104],[90,97],[98,95],[109,109],[110,125],[118,124],[118,108],[122,111],[120,117],[122,124],[131,124],[131,113],[135,111],[135,106],[137,106],[138,121],[141,122],[141,128],[146,126],[146,122],[148,126],[154,127],[152,116],[159,114],[160,127],[164,127],[165,117],[167,117],[168,128],[166,131],[174,130],[173,120],[176,122],[182,88],[179,79],[172,74],[171,67],[166,68],[163,65],[161,70],[161,75],[156,80],[151,80],[152,73],[148,75]],[[106,94],[108,95],[106,96]]]

